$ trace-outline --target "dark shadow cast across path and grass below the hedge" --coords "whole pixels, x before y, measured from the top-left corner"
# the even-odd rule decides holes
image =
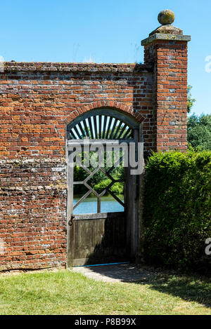
[[[160,293],[180,297],[186,302],[198,302],[211,308],[211,279],[153,270],[137,264],[89,267],[92,273],[118,279],[124,283],[148,285]]]

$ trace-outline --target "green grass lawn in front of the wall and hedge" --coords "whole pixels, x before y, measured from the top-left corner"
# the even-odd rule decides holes
[[[0,314],[211,314],[211,280],[155,274],[106,283],[68,270],[0,274]]]

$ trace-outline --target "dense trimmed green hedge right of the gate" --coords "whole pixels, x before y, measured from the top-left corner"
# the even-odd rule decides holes
[[[153,154],[146,164],[145,260],[211,273],[211,152]]]

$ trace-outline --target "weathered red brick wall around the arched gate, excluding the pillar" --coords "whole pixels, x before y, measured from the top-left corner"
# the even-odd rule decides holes
[[[113,107],[143,121],[153,148],[147,65],[6,62],[0,73],[0,269],[65,265],[66,124]]]

